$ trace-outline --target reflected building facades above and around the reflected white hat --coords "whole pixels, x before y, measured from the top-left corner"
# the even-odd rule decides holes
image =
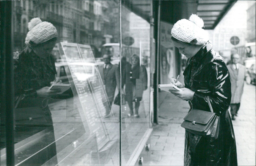
[[[119,1],[14,1],[14,9],[14,47],[18,51],[25,46],[28,22],[34,17],[51,22],[60,41],[95,48],[119,42]]]

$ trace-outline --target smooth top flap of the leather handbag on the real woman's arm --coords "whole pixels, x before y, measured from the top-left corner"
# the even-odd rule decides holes
[[[214,112],[193,109],[190,112],[188,112],[187,116],[185,116],[183,119],[188,120],[190,122],[207,124],[214,115]]]

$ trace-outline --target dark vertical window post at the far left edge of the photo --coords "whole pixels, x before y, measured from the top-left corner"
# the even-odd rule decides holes
[[[5,113],[6,165],[14,165],[14,74],[12,59],[12,2],[1,1],[1,117]],[[3,69],[3,70],[2,70]],[[4,71],[4,72],[3,72]],[[4,81],[2,79],[5,79]],[[1,87],[1,88],[2,88]],[[5,98],[5,99],[4,99]],[[2,121],[1,121],[2,122]]]

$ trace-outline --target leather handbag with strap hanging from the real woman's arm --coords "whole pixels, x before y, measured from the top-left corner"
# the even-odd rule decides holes
[[[209,96],[207,96],[207,102],[211,112],[192,109],[183,118],[184,121],[181,127],[190,133],[217,139],[219,135],[220,117],[213,112]]]

